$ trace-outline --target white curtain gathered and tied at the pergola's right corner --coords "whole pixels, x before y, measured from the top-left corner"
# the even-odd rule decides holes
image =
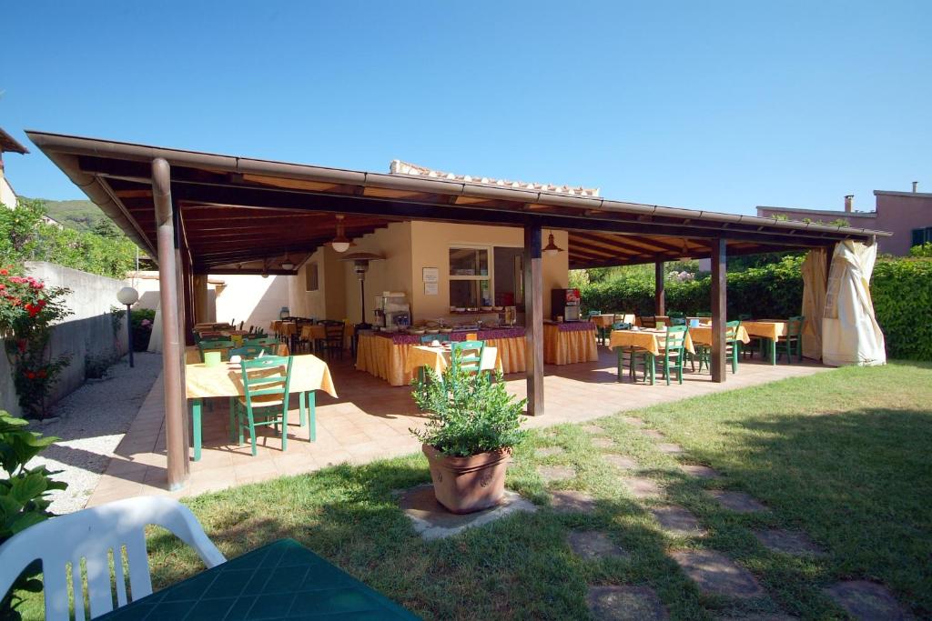
[[[870,301],[870,275],[877,244],[843,241],[831,260],[825,316],[822,319],[822,362],[832,367],[886,362],[884,332]]]

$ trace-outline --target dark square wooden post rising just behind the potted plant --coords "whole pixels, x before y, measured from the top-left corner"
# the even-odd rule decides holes
[[[525,339],[528,372],[528,415],[543,413],[543,265],[541,226],[525,226]]]

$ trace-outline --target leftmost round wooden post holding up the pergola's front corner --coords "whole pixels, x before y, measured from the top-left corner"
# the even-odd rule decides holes
[[[152,162],[152,194],[156,205],[158,290],[162,313],[162,379],[165,383],[165,444],[170,490],[181,489],[188,475],[185,346],[181,335],[178,265],[171,204],[171,169],[158,157]]]

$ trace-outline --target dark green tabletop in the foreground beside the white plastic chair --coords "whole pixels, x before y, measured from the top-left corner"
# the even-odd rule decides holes
[[[417,619],[294,539],[281,539],[98,619]]]

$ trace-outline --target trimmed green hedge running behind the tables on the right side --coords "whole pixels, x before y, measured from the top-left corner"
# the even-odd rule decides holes
[[[790,317],[802,308],[802,258],[728,275],[728,317]],[[877,322],[890,358],[932,360],[932,259],[881,259],[870,283]],[[666,308],[692,315],[710,310],[711,279],[668,282]],[[653,314],[653,278],[583,285],[583,310]]]

